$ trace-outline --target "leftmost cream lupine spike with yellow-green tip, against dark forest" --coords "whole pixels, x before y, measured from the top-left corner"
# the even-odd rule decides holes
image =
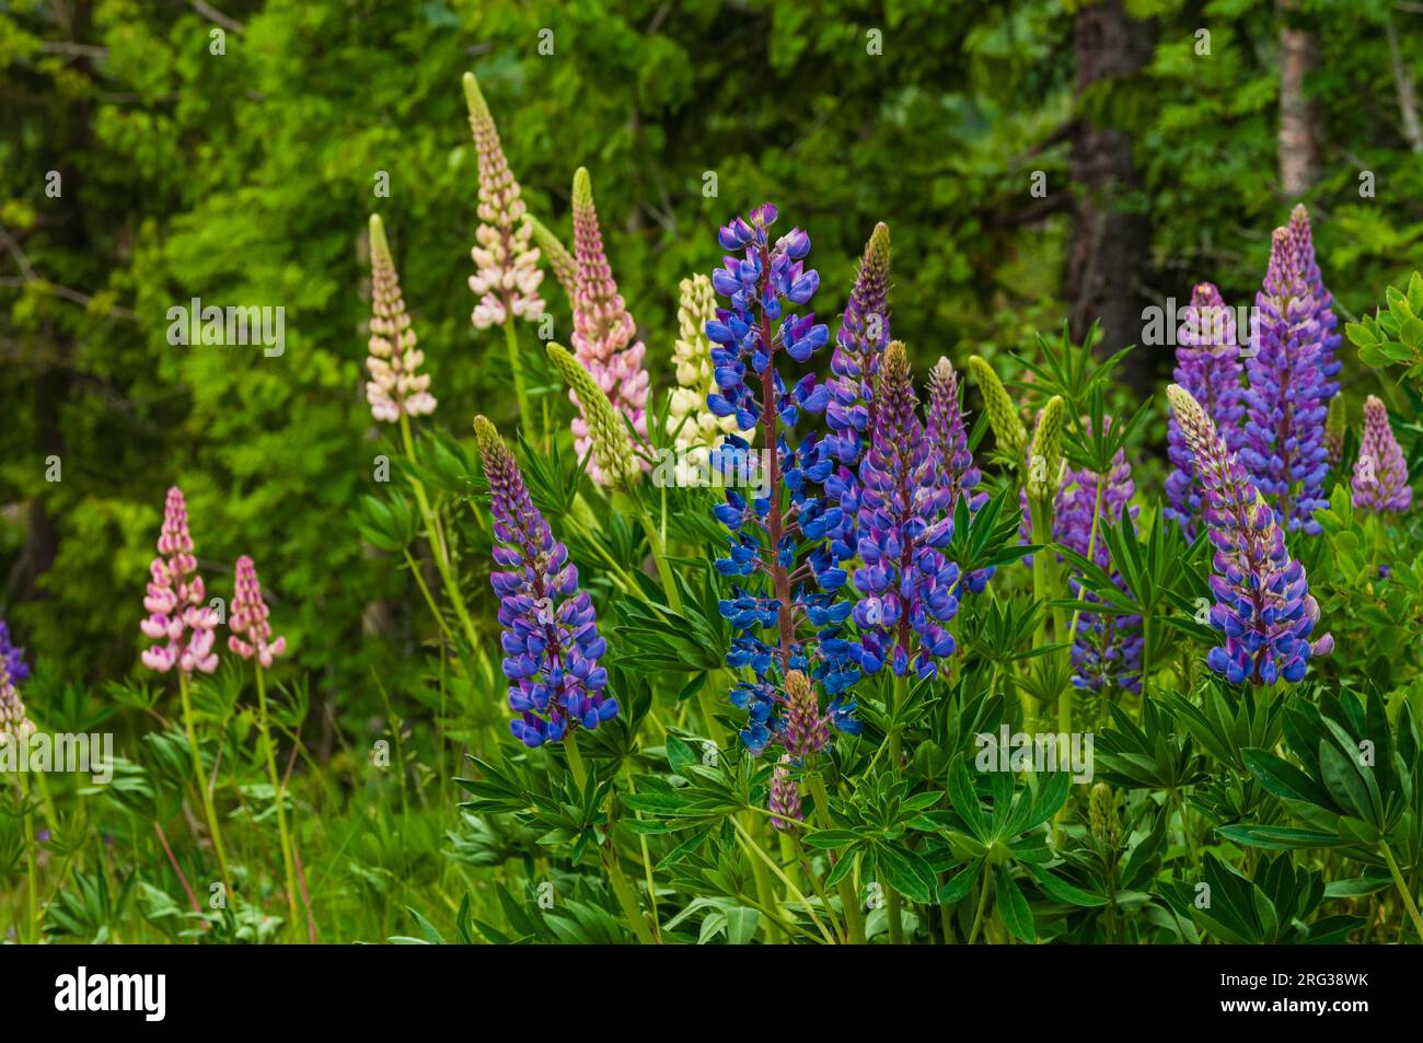
[[[400,276],[390,256],[390,243],[380,218],[370,215],[370,357],[366,369],[366,401],[376,420],[394,424],[401,415],[420,417],[435,411],[430,374],[417,373],[425,360],[416,347],[416,332],[400,295]]]

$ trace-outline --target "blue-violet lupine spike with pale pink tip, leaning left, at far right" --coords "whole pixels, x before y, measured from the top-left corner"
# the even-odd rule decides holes
[[[1309,593],[1305,569],[1289,556],[1272,508],[1225,448],[1201,404],[1175,384],[1167,397],[1195,461],[1201,518],[1215,546],[1211,625],[1224,633],[1225,643],[1211,649],[1207,663],[1232,684],[1301,682],[1309,657],[1333,649],[1328,633],[1309,642],[1319,605]]]

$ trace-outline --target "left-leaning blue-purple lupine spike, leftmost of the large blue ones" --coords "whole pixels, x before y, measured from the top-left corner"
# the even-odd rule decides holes
[[[499,568],[490,585],[499,598],[504,676],[519,714],[509,731],[528,747],[559,743],[571,729],[592,730],[618,716],[618,700],[605,692],[608,672],[598,665],[608,645],[592,600],[578,588],[578,566],[534,507],[514,454],[484,417],[475,417],[474,434],[494,514]]]

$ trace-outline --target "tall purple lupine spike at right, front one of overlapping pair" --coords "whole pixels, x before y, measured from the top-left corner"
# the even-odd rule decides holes
[[[1299,270],[1289,229],[1275,229],[1269,269],[1258,295],[1255,353],[1245,366],[1245,440],[1239,460],[1255,488],[1289,529],[1318,534],[1329,452],[1323,443],[1328,404],[1319,397],[1321,327],[1315,299]]]

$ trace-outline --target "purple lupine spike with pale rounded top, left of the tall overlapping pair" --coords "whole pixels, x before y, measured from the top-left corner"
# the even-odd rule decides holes
[[[1197,283],[1191,305],[1181,312],[1177,333],[1175,383],[1190,391],[1215,423],[1225,447],[1237,452],[1245,438],[1245,387],[1234,312],[1225,306],[1212,283]],[[1171,417],[1167,423],[1167,455],[1174,470],[1165,480],[1170,505],[1163,509],[1195,539],[1201,517],[1201,488],[1192,478],[1191,451]]]

